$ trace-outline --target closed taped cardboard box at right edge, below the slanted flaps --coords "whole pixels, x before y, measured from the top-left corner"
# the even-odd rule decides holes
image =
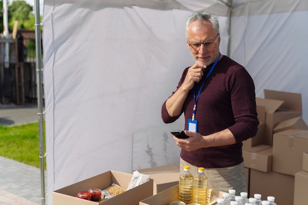
[[[302,171],[303,152],[308,152],[308,130],[288,129],[275,133],[273,171],[292,176]]]

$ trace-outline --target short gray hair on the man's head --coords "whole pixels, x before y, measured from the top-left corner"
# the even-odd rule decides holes
[[[216,33],[219,33],[218,20],[212,14],[209,14],[206,11],[196,11],[187,18],[186,26],[185,26],[186,36],[187,36],[188,27],[194,21],[199,21],[200,23],[210,22],[213,25],[213,28],[216,30]]]

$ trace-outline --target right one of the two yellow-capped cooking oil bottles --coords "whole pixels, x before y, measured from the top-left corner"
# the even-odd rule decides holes
[[[208,191],[208,178],[204,174],[204,168],[198,168],[198,174],[193,179],[192,202],[206,205]]]

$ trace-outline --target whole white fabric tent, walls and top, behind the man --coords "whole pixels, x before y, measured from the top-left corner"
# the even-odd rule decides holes
[[[242,4],[244,3],[244,4]],[[256,86],[301,93],[308,122],[306,0],[44,0],[43,49],[48,202],[54,190],[108,170],[179,162],[160,117],[193,59],[185,21],[207,10],[220,23],[226,54]]]

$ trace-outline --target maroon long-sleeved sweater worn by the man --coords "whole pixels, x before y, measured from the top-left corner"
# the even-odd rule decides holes
[[[211,67],[212,64],[204,70],[203,78],[196,84],[196,97]],[[177,89],[183,83],[188,68],[184,70]],[[191,119],[193,106],[194,97],[191,89],[182,110],[185,114],[185,129],[187,120]],[[164,102],[161,117],[164,123],[172,123],[180,115],[171,117]],[[195,119],[198,121],[198,132],[201,135],[209,135],[228,128],[235,136],[236,144],[201,148],[192,152],[182,149],[181,157],[185,161],[205,168],[229,167],[243,161],[242,141],[255,136],[259,125],[254,83],[243,66],[227,56],[218,61],[200,93]]]

